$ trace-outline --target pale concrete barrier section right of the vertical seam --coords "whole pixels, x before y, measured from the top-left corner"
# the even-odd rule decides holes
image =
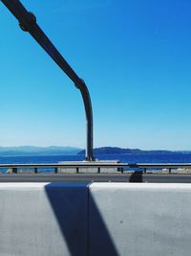
[[[190,205],[191,184],[93,184],[90,255],[190,256]]]

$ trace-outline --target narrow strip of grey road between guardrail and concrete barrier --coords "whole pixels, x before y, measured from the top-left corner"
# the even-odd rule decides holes
[[[0,182],[154,182],[191,183],[191,175],[0,174]]]

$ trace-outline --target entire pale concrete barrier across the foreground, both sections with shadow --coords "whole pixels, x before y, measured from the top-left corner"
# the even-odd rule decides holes
[[[191,184],[0,183],[0,256],[190,256]]]

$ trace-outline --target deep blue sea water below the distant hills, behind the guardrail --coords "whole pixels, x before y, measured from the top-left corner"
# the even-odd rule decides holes
[[[58,163],[60,161],[81,161],[83,155],[45,155],[45,156],[4,156],[0,157],[1,164],[11,163]],[[191,163],[191,153],[128,153],[128,154],[99,154],[98,160],[118,160],[123,163]],[[51,172],[53,170],[42,170]],[[1,170],[0,172],[6,172]]]

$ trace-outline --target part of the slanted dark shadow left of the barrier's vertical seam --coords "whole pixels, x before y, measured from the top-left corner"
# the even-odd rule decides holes
[[[88,184],[53,182],[45,191],[68,248],[63,255],[87,255]]]

